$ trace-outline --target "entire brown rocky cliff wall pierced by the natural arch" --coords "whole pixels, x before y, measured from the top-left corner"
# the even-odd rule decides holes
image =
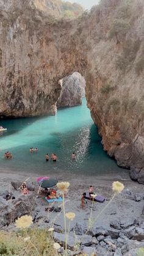
[[[79,71],[104,149],[144,183],[143,0],[101,0],[71,22],[28,0],[0,7],[1,116],[54,114],[59,79]]]

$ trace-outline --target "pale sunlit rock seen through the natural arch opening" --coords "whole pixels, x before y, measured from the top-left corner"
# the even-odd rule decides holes
[[[60,81],[62,91],[59,100],[57,101],[57,108],[72,107],[82,104],[82,97],[85,97],[85,79],[78,72],[63,78]]]

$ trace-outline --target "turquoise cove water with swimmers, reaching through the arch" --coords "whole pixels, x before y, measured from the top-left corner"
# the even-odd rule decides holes
[[[123,172],[104,152],[85,98],[82,106],[59,109],[55,116],[1,120],[0,125],[7,128],[0,137],[2,168],[38,174]],[[37,147],[38,152],[30,153],[30,147]],[[12,160],[4,158],[8,150]],[[57,163],[45,161],[45,154],[52,152],[58,156]],[[75,161],[71,160],[72,152],[76,152]]]

